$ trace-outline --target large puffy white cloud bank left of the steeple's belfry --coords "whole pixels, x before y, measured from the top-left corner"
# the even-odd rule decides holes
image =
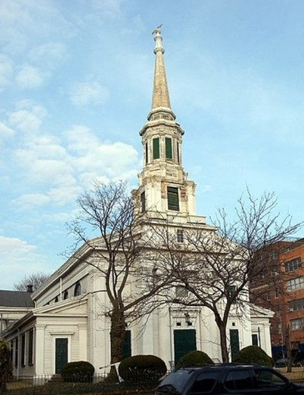
[[[66,131],[63,137],[66,142],[48,135],[32,136],[25,146],[15,151],[15,162],[21,169],[23,180],[36,191],[14,200],[19,210],[75,202],[96,179],[136,177],[139,155],[133,146],[122,142],[100,142],[82,125]]]

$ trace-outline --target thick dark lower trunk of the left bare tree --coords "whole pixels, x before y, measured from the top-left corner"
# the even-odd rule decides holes
[[[124,336],[126,333],[126,321],[124,311],[120,305],[113,307],[111,313],[111,364],[122,360],[122,350],[124,347]]]

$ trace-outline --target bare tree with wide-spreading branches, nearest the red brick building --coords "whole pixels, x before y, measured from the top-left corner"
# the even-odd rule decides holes
[[[247,190],[247,198],[238,200],[233,222],[220,209],[214,227],[184,227],[182,245],[173,241],[172,224],[154,227],[164,246],[158,251],[162,271],[171,271],[176,285],[188,292],[187,297],[174,297],[173,302],[205,306],[212,311],[220,333],[223,362],[229,361],[229,315],[248,316],[249,285],[269,273],[260,260],[260,251],[301,226],[292,225],[289,216],[280,221],[280,215],[274,212],[276,206],[274,193],[264,193],[257,200]],[[268,281],[275,282],[276,276],[270,276]]]

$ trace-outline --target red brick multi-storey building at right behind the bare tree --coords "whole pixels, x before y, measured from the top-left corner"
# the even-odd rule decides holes
[[[259,259],[265,263],[265,273],[251,291],[258,305],[275,312],[273,356],[287,356],[289,349],[293,358],[304,359],[304,238],[272,244]]]

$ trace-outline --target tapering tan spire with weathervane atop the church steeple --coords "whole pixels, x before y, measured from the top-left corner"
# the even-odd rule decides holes
[[[169,108],[171,110],[166,72],[164,70],[164,48],[162,47],[162,24],[153,30],[155,41],[155,72],[153,83],[152,111],[156,108]]]

